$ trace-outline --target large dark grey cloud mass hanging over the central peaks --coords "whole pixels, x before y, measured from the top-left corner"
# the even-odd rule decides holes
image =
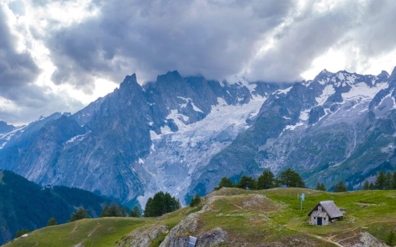
[[[174,69],[209,78],[238,73],[293,2],[103,1],[98,17],[48,40],[52,79],[89,90],[92,75],[120,81],[135,71],[141,78]]]

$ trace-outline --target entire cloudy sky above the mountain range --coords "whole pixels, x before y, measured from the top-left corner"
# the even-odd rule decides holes
[[[394,0],[0,0],[0,120],[75,112],[178,70],[294,82],[396,65]]]

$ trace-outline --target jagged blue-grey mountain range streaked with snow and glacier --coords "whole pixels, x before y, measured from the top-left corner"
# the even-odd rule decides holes
[[[0,169],[144,206],[157,191],[185,205],[221,177],[296,169],[313,187],[359,189],[395,170],[392,75],[322,71],[295,83],[219,82],[177,71],[136,75],[75,114],[0,122]]]

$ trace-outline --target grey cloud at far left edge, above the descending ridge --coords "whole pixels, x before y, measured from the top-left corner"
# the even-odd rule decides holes
[[[15,51],[15,41],[0,7],[0,120],[26,123],[44,113],[82,107],[68,95],[59,97],[34,84],[40,70],[29,53]]]

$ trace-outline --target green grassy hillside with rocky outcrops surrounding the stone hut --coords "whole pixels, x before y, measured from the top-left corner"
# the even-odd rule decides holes
[[[306,195],[302,210],[297,201],[301,192]],[[223,188],[198,207],[187,206],[160,218],[85,219],[36,230],[6,246],[130,246],[134,241],[172,246],[189,235],[198,236],[198,246],[205,246],[205,241],[219,246],[352,246],[371,241],[379,246],[396,227],[395,199],[396,191]],[[344,219],[329,226],[308,225],[306,214],[324,200],[334,200],[345,210]],[[149,244],[142,242],[144,236]]]

